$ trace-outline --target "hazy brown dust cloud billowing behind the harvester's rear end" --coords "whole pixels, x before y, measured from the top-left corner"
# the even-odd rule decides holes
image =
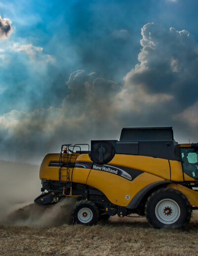
[[[54,205],[38,205],[39,166],[0,161],[0,225],[31,227],[71,224],[72,198]]]

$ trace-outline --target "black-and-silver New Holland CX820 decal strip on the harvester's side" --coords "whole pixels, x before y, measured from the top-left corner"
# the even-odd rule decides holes
[[[132,180],[132,177],[130,174],[128,174],[127,172],[125,172],[124,170],[117,168],[117,167],[113,167],[111,165],[97,165],[94,164],[92,169],[94,170],[99,170],[99,171],[103,171],[103,172],[108,172],[108,173],[113,173],[116,175],[119,175],[129,181]]]

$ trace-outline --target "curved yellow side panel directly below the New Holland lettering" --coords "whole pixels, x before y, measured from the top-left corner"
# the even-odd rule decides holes
[[[145,186],[163,180],[157,176],[143,173],[133,181],[129,181],[111,173],[92,169],[87,185],[103,192],[110,202],[120,206],[127,206],[134,195]],[[130,198],[127,197],[129,199],[126,199],[126,195],[129,195]]]

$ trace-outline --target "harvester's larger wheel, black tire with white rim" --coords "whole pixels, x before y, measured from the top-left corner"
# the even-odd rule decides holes
[[[160,189],[148,197],[145,215],[151,227],[181,228],[191,219],[191,205],[182,192],[169,188]]]

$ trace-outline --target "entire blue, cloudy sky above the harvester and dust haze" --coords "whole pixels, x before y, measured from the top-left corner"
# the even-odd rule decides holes
[[[173,127],[198,142],[197,0],[0,0],[0,159]]]

